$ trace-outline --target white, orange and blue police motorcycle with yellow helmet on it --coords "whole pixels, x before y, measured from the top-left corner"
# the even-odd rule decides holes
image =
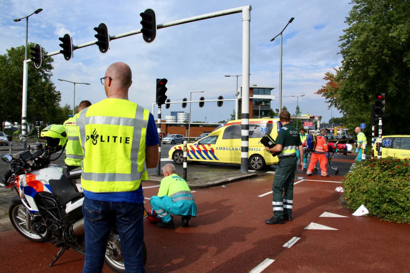
[[[81,172],[73,170],[70,173],[74,174],[68,178],[62,168],[50,165],[51,160],[55,160],[51,155],[60,150],[62,153],[67,144],[64,126],[49,125],[42,131],[42,138],[46,139],[45,148],[39,143],[33,154],[21,151],[2,157],[3,161],[10,163],[2,186],[18,194],[9,207],[9,218],[17,232],[28,240],[49,241],[60,248],[51,259],[51,267],[67,249],[85,254],[84,216],[81,211],[84,194],[80,187],[76,187]],[[145,244],[143,252],[145,265]],[[115,227],[107,243],[105,264],[114,272],[125,272],[121,242]]]

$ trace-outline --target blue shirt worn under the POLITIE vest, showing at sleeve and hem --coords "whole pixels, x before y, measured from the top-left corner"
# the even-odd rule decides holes
[[[146,145],[154,146],[159,144],[159,136],[157,132],[157,125],[155,124],[154,116],[150,113],[148,119]],[[138,190],[133,192],[120,192],[120,193],[93,193],[84,190],[84,195],[88,199],[98,201],[109,201],[118,203],[133,203],[141,204],[144,202],[144,191],[142,190],[142,183],[139,185]]]

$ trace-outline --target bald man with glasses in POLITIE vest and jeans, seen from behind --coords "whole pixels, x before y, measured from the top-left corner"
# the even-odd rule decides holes
[[[127,272],[145,272],[144,191],[147,168],[158,163],[154,116],[128,100],[132,72],[114,62],[101,78],[107,99],[76,115],[84,159],[85,261],[83,273],[103,270],[107,241],[115,225]]]

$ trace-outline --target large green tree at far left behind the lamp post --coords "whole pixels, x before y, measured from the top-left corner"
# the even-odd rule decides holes
[[[28,48],[34,47],[33,43]],[[44,54],[47,54],[42,49]],[[28,51],[30,54],[30,50]],[[22,120],[22,90],[23,90],[23,61],[25,47],[10,48],[7,53],[0,55],[0,117],[4,121],[21,122]],[[53,59],[47,57],[42,60],[39,69],[29,64],[27,84],[27,121],[33,117],[46,119],[55,117],[61,100],[60,92],[55,90],[51,81]]]

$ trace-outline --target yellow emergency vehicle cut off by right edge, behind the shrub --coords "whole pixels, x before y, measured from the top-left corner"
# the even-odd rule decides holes
[[[410,135],[382,136],[381,140],[381,157],[410,158]],[[372,156],[377,157],[378,153],[379,138],[376,139],[375,145],[373,145]]]

